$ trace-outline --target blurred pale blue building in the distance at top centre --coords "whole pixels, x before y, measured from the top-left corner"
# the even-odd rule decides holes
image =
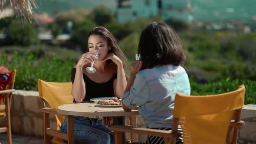
[[[162,16],[163,20],[174,18],[190,23],[193,9],[190,0],[118,0],[118,23],[134,21],[138,18]]]

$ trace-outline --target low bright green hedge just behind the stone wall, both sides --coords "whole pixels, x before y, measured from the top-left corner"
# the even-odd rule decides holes
[[[37,59],[32,53],[20,56],[15,53],[13,58],[0,57],[0,65],[9,70],[16,69],[16,89],[37,91],[37,79],[48,82],[70,82],[70,72],[75,65],[72,59],[60,59],[56,56],[44,56]],[[246,87],[245,104],[256,104],[256,81],[241,79],[222,79],[200,85],[190,79],[191,95],[213,95],[234,91],[239,85]]]

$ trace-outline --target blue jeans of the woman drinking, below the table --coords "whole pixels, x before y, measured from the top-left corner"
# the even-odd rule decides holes
[[[66,118],[60,130],[67,132]],[[102,123],[102,118],[74,116],[75,144],[115,144],[114,132]]]

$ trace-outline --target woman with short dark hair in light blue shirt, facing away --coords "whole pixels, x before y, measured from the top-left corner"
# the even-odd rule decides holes
[[[175,94],[190,95],[189,79],[181,67],[185,55],[180,39],[166,23],[151,23],[141,33],[138,54],[122,107],[131,111],[138,106],[147,128],[171,130]],[[182,143],[178,138],[176,144]],[[149,136],[146,144],[164,144],[164,138]]]

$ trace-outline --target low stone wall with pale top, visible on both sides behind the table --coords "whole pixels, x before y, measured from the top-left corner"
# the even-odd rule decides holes
[[[11,125],[13,133],[43,137],[43,113],[38,109],[42,106],[39,93],[34,91],[16,90],[11,100]],[[47,105],[46,105],[47,106]],[[256,105],[245,105],[242,120],[246,125],[240,128],[239,144],[256,144]],[[140,116],[137,116],[138,127],[145,127]],[[1,123],[3,125],[3,122]],[[51,116],[51,128],[56,128],[54,116]],[[127,134],[129,138],[129,134]],[[139,135],[139,141],[146,136]]]

